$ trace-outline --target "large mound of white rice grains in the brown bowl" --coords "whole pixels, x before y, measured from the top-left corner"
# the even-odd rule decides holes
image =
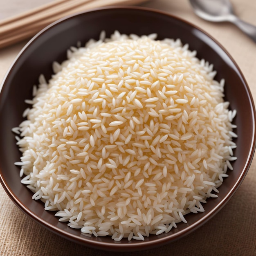
[[[204,211],[235,160],[224,81],[180,40],[72,47],[13,129],[22,183],[86,236],[144,240]]]

